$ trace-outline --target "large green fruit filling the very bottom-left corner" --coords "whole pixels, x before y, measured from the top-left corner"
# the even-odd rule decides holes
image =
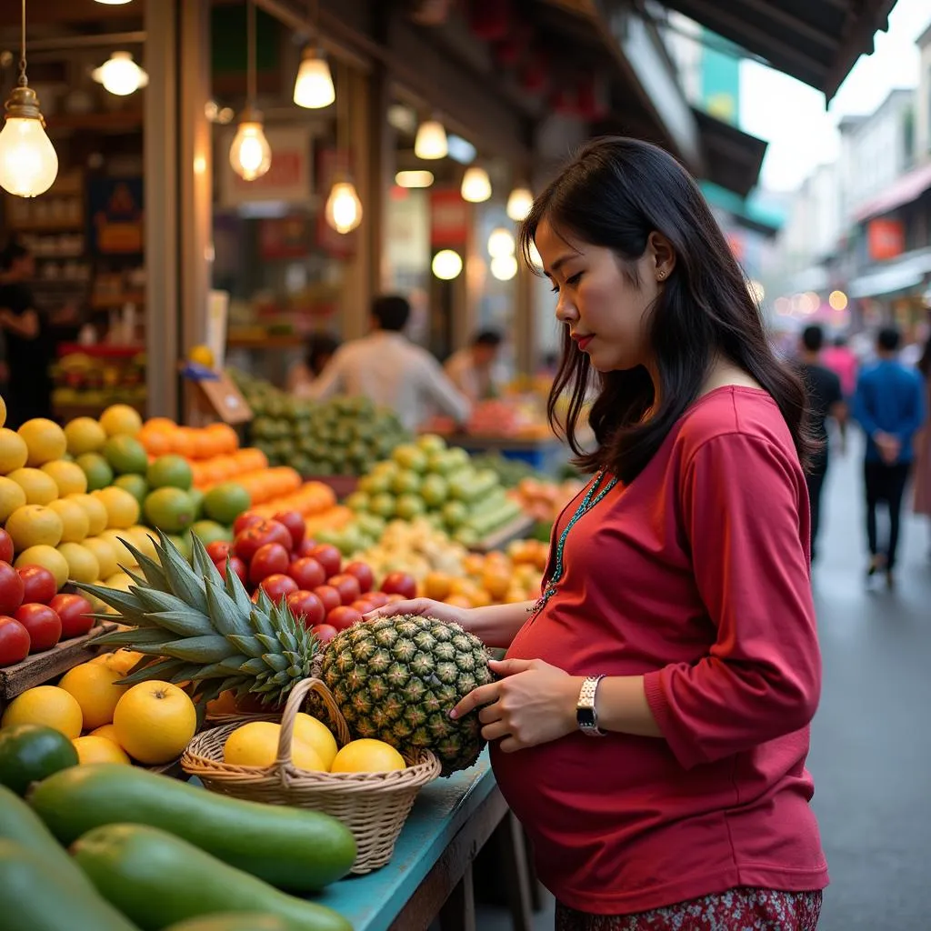
[[[0,902],[4,931],[138,931],[86,881],[14,841],[0,840]]]

